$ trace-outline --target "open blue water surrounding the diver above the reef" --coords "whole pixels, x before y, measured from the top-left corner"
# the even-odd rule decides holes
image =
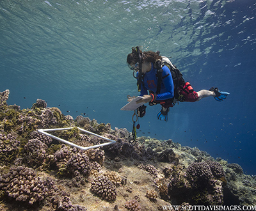
[[[237,162],[256,175],[254,0],[0,1],[0,91],[8,104],[37,98],[74,118],[86,113],[132,130],[138,95],[126,64],[131,47],[172,56],[195,90],[217,86],[227,100],[175,105],[168,122],[147,107],[138,136],[173,139]],[[69,112],[67,112],[69,111]]]

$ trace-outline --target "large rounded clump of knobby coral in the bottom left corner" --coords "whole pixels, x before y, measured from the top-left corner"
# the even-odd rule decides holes
[[[24,166],[12,166],[9,173],[0,176],[0,189],[16,201],[29,205],[42,201],[51,188],[47,182],[36,176],[36,172]]]

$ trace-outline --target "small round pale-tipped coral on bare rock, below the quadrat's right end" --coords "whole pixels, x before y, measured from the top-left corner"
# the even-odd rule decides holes
[[[116,187],[107,176],[98,176],[95,178],[91,183],[90,190],[106,201],[113,201],[116,199]]]

